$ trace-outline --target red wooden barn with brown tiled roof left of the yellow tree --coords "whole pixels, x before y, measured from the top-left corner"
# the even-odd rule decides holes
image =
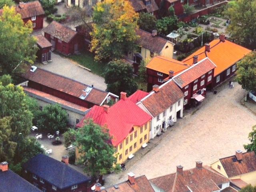
[[[52,21],[45,29],[44,36],[52,44],[52,49],[64,55],[79,52],[82,49],[82,36],[71,28]]]

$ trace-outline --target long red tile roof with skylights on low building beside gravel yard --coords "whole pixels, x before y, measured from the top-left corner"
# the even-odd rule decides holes
[[[38,84],[42,84],[78,98],[84,93],[83,90],[88,87],[90,88],[90,86],[86,84],[41,68],[37,68],[35,72],[31,72],[30,69],[28,69],[21,74],[21,76],[29,81],[37,82]],[[108,92],[106,91],[92,88],[84,100],[92,104],[100,105],[106,99],[107,95]]]

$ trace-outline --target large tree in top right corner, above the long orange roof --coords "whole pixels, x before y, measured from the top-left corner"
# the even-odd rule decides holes
[[[255,49],[256,44],[256,2],[232,1],[228,7],[231,24],[228,26],[231,38]]]

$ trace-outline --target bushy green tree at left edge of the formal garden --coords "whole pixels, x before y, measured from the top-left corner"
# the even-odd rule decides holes
[[[178,29],[177,23],[178,23],[178,18],[176,16],[163,17],[162,19],[157,20],[156,28],[160,34],[168,35],[173,30]]]

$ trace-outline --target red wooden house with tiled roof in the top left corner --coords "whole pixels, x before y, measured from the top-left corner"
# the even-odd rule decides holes
[[[29,20],[32,22],[34,30],[42,29],[44,24],[44,9],[42,8],[39,1],[33,2],[20,2],[18,6],[15,7],[17,13],[22,17],[24,23]],[[3,10],[0,10],[0,15]]]

